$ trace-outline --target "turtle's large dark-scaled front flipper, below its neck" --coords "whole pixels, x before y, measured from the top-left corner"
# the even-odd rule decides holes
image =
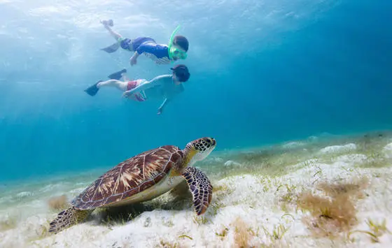
[[[212,199],[212,184],[202,170],[195,167],[187,167],[182,175],[193,196],[193,205],[197,215],[204,214]]]

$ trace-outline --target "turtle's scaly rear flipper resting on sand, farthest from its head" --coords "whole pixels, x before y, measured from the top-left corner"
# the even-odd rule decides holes
[[[50,233],[58,233],[70,226],[76,225],[84,221],[92,210],[77,210],[75,207],[68,209],[57,214],[57,218],[50,222]]]

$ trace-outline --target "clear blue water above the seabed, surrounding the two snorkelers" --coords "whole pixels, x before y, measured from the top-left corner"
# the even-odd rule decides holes
[[[0,181],[111,167],[160,145],[213,136],[216,150],[318,133],[391,129],[391,1],[0,1]],[[127,68],[169,73],[123,36],[190,41],[186,92],[160,103],[83,89]]]

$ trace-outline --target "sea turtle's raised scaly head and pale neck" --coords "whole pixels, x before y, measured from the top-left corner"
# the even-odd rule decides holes
[[[184,149],[188,166],[193,166],[197,161],[201,161],[216,147],[216,140],[210,137],[198,138],[190,141]]]

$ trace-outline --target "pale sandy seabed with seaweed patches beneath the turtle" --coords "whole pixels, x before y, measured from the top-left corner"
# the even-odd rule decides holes
[[[14,187],[0,195],[0,247],[392,247],[391,137],[213,153],[195,165],[214,185],[202,217],[183,185],[52,235],[49,221],[94,177]]]

